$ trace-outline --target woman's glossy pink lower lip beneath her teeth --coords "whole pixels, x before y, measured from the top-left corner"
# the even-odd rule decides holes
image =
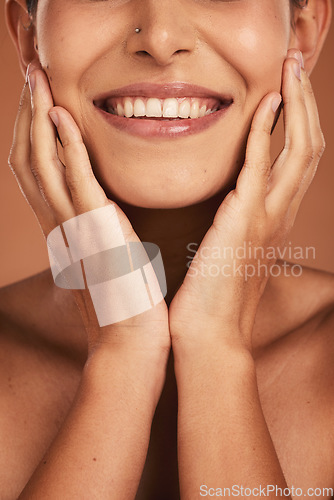
[[[199,132],[207,130],[225,115],[231,105],[232,103],[227,104],[222,109],[203,116],[202,118],[188,118],[180,120],[126,118],[107,113],[97,107],[96,109],[102,114],[104,119],[110,123],[110,125],[114,126],[118,130],[122,130],[139,137],[166,137],[170,139],[173,137],[178,138],[198,134]]]

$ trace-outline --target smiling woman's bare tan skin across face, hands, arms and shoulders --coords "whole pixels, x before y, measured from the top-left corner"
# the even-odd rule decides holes
[[[80,498],[121,500],[136,495],[161,498],[163,494],[173,498],[177,497],[176,467],[182,500],[199,498],[200,484],[329,487],[333,484],[330,444],[326,443],[321,470],[314,462],[309,463],[312,473],[304,465],[305,446],[314,457],[321,443],[323,453],[324,435],[332,424],[332,398],[325,379],[328,382],[332,376],[333,278],[304,270],[298,279],[280,276],[268,281],[263,268],[275,259],[267,256],[261,259],[261,273],[249,280],[238,275],[203,276],[198,270],[202,263],[231,264],[231,259],[203,256],[205,248],[212,251],[215,246],[232,245],[237,249],[250,241],[267,249],[281,247],[287,239],[324,149],[308,76],[328,30],[330,4],[314,0],[300,14],[292,33],[289,10],[281,2],[263,0],[258,17],[254,17],[259,11],[252,2],[242,10],[237,3],[225,10],[221,3],[196,2],[190,9],[189,2],[175,0],[164,4],[161,17],[156,3],[145,2],[147,31],[142,38],[128,35],[122,46],[126,52],[120,55],[121,21],[134,14],[135,3],[112,6],[113,16],[109,17],[106,3],[97,8],[97,3],[73,2],[69,7],[63,0],[41,0],[33,32],[36,40],[34,34],[25,34],[18,27],[22,4],[7,2],[21,65],[25,68],[27,62],[35,61],[28,68],[29,88],[23,89],[10,164],[44,234],[68,218],[116,199],[127,240],[140,238],[159,244],[169,291],[166,302],[147,313],[105,328],[98,327],[87,291],[57,290],[49,273],[3,291],[7,325],[3,380],[10,390],[14,388],[14,372],[9,375],[8,366],[14,358],[14,366],[19,360],[19,373],[25,367],[28,378],[36,377],[34,385],[41,391],[37,401],[36,387],[31,396],[36,420],[31,432],[24,431],[24,435],[29,434],[36,446],[36,432],[45,429],[40,448],[34,448],[34,457],[24,462],[29,463],[29,470],[22,472],[20,484],[17,476],[10,482],[8,496],[24,488],[20,500],[56,499],[64,492]],[[228,38],[222,35],[220,24],[212,22],[211,9],[226,28],[230,25],[231,35],[233,25],[236,28],[234,41],[239,47],[231,60]],[[238,29],[241,15],[245,30]],[[101,23],[113,21],[114,29],[108,25],[100,31],[98,41],[88,40],[87,50],[78,58],[77,35],[84,31],[88,35],[91,21],[96,30]],[[263,36],[266,44],[261,41]],[[54,50],[57,46],[64,50],[64,43],[66,53]],[[305,66],[299,49],[304,52]],[[234,89],[230,118],[222,121],[221,128],[216,124],[207,133],[180,142],[180,156],[174,162],[173,141],[134,141],[127,134],[120,134],[116,141],[115,131],[102,126],[91,102],[93,90],[101,92],[109,82],[109,57],[110,63],[122,62],[124,71],[119,75],[124,78],[134,69],[138,78],[142,70],[146,77],[150,72],[153,77],[162,67],[166,79],[176,78],[181,67],[178,61],[190,63],[189,71],[196,72],[199,66],[192,62],[210,61],[225,75],[224,90]],[[261,57],[266,62],[257,64]],[[167,68],[174,72],[168,75]],[[218,73],[212,73],[213,77]],[[187,75],[190,79],[191,73]],[[192,75],[193,79],[200,77],[200,73]],[[212,80],[210,85],[220,83]],[[285,147],[272,165],[270,131],[281,98]],[[63,144],[62,161],[56,131]],[[224,141],[220,147],[218,140]],[[197,154],[189,175],[188,160],[193,152]],[[208,175],[203,177],[204,164]],[[170,175],[175,182],[169,192],[165,186],[170,186]],[[135,184],[134,176],[138,179]],[[151,189],[147,191],[148,180]],[[128,205],[129,200],[139,206]],[[186,273],[184,252],[190,241],[201,246]],[[239,258],[242,265],[251,262],[248,257]],[[37,300],[27,303],[26,316],[22,309],[14,311],[24,302],[25,286],[30,294],[32,290],[37,294]],[[301,289],[302,300],[296,298]],[[27,325],[31,325],[28,336]],[[166,377],[171,347],[174,359]],[[318,366],[322,371],[314,376]],[[50,390],[52,374],[59,382]],[[296,396],[289,399],[292,390]],[[25,387],[25,401],[29,394],[32,392]],[[18,435],[20,426],[14,416],[19,400],[16,397],[13,402],[4,436],[12,436],[14,424]],[[28,415],[31,403],[26,404]],[[317,419],[315,431],[316,404],[322,410],[323,426]],[[43,408],[40,413],[36,405]],[[300,419],[296,416],[299,409]],[[57,416],[52,429],[50,414],[53,419]],[[300,434],[295,432],[296,421]],[[28,422],[23,421],[23,426]],[[170,442],[174,445],[169,454]],[[23,458],[22,449],[18,451]],[[14,473],[17,469],[8,467],[9,461],[4,469]],[[174,471],[173,491],[159,482],[163,463],[171,467],[166,478],[173,477]],[[9,477],[7,474],[7,484]],[[10,491],[13,483],[15,492]]]

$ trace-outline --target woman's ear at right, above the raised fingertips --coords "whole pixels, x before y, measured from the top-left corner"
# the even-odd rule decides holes
[[[309,0],[294,13],[295,30],[291,30],[289,48],[301,50],[305,70],[310,75],[319,58],[331,20],[331,0]]]

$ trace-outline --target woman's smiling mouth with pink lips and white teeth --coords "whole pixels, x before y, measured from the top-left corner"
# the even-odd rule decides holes
[[[110,123],[129,132],[137,130],[139,135],[144,135],[145,130],[134,129],[131,125],[134,122],[139,126],[146,124],[154,135],[199,131],[219,118],[232,103],[231,96],[182,82],[130,85],[93,100],[94,106],[107,115]],[[152,128],[154,123],[158,129]]]

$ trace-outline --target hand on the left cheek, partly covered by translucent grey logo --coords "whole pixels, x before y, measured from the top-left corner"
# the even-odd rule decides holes
[[[28,71],[31,92],[25,84],[9,163],[47,237],[64,221],[105,207],[111,201],[93,174],[78,126],[64,108],[53,108],[49,83],[39,62],[30,65]],[[53,120],[58,122],[64,163],[58,156],[56,128],[48,114],[50,110]],[[124,212],[113,205],[125,241],[139,242]],[[169,351],[168,310],[164,300],[145,313],[100,328],[88,290],[71,293],[87,330],[89,353],[97,346],[110,344],[131,345],[148,354]]]

